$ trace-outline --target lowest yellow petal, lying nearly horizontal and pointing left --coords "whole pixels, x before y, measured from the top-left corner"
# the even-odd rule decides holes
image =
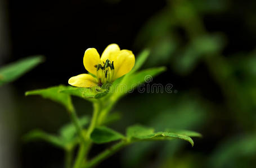
[[[77,87],[93,87],[97,85],[96,79],[90,74],[79,74],[69,79],[69,85]]]

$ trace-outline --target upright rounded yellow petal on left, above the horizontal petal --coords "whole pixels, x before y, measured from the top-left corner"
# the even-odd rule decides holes
[[[100,63],[100,54],[98,54],[95,48],[88,48],[84,53],[84,68],[92,74],[97,74],[97,68],[95,66]]]

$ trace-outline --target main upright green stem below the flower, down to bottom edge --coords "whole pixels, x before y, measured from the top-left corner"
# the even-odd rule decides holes
[[[79,148],[78,156],[75,160],[74,168],[80,168],[83,161],[86,162],[89,149],[91,148],[92,142],[91,142],[91,139],[90,139],[90,135],[91,135],[93,129],[96,127],[96,124],[97,124],[98,113],[100,111],[100,101],[95,102],[93,104],[93,108],[94,108],[94,110],[93,110],[93,116],[92,116],[91,124],[89,125],[89,128],[86,132],[85,142],[80,143],[80,148]]]

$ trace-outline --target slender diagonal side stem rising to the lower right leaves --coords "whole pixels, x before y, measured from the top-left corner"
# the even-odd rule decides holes
[[[89,167],[94,167],[97,164],[99,164],[101,161],[105,160],[107,157],[110,157],[113,155],[115,152],[119,151],[121,148],[126,146],[128,143],[121,141],[119,143],[116,143],[114,146],[108,148],[104,152],[100,153],[97,155],[95,158],[93,158],[91,161],[87,162],[87,165],[83,168],[89,168]]]

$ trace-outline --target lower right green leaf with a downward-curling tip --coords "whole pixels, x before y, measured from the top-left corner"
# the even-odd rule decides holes
[[[170,140],[173,138],[182,139],[191,143],[194,146],[193,140],[183,134],[172,132],[154,132],[154,129],[143,127],[141,125],[133,125],[127,129],[127,138],[132,141],[144,140]]]

